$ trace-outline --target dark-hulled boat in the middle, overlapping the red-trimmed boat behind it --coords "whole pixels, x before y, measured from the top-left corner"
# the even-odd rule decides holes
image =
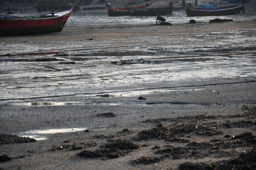
[[[164,16],[169,15],[173,11],[173,6],[159,8],[128,8],[129,16],[156,16],[157,14]]]

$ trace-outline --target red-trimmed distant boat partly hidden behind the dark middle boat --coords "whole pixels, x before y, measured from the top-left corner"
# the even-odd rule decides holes
[[[147,8],[149,4],[143,6],[133,6],[131,8]],[[112,8],[111,6],[107,7],[108,16],[129,16],[127,7],[121,8]]]

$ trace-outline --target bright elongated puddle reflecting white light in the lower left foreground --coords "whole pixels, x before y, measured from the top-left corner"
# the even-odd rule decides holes
[[[87,128],[61,128],[61,129],[46,129],[46,130],[28,130],[26,132],[21,132],[18,136],[30,137],[35,140],[47,140],[48,135],[53,135],[56,133],[79,132],[82,130],[87,130]]]

